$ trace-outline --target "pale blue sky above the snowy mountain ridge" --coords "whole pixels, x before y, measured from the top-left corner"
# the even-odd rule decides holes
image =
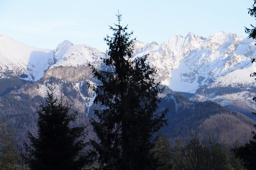
[[[1,0],[0,34],[24,44],[55,49],[64,40],[106,51],[103,40],[117,24],[134,31],[132,38],[161,44],[189,32],[205,38],[220,31],[248,36],[244,26],[253,0]]]

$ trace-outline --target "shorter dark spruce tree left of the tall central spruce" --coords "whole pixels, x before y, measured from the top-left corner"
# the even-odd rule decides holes
[[[53,85],[52,85],[53,86]],[[49,88],[46,103],[37,110],[37,136],[27,132],[30,145],[24,143],[29,156],[26,158],[30,170],[78,170],[90,161],[80,152],[87,143],[85,126],[70,127],[77,112],[70,114],[71,105],[63,103],[63,96],[55,97],[54,88]]]

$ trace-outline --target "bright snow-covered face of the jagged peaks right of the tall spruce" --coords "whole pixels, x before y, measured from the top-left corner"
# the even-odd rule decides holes
[[[189,33],[160,45],[136,42],[135,47],[136,56],[150,54],[149,62],[158,70],[157,79],[173,91],[195,93],[212,82],[222,86],[231,81],[249,83],[250,74],[245,74],[256,71],[250,62],[250,57],[256,57],[254,41],[231,33],[220,32],[208,38]],[[234,79],[237,74],[243,76]]]

